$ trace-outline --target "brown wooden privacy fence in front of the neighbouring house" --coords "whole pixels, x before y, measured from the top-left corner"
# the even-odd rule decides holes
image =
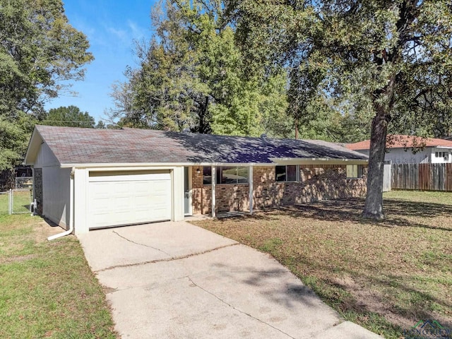
[[[392,189],[452,191],[452,164],[393,164]]]

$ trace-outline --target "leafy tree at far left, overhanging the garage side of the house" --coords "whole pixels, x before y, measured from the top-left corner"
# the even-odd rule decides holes
[[[65,90],[61,81],[83,78],[88,47],[61,0],[0,0],[0,169],[20,162],[44,101]]]

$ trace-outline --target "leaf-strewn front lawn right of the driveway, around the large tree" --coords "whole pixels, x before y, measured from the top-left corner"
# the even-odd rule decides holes
[[[417,321],[452,328],[452,194],[391,191],[386,220],[364,200],[324,201],[194,222],[272,254],[345,319],[385,338]]]

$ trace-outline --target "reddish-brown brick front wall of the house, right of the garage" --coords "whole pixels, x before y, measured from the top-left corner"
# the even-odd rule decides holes
[[[211,186],[203,185],[203,171],[193,171],[193,213],[211,212]],[[367,167],[361,179],[347,179],[345,165],[303,165],[299,182],[276,182],[274,166],[253,167],[253,208],[365,196]],[[217,184],[217,212],[249,210],[249,184]]]

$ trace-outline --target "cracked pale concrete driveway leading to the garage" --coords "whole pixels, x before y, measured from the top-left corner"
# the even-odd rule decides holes
[[[187,222],[78,238],[122,338],[381,338],[267,254]]]

